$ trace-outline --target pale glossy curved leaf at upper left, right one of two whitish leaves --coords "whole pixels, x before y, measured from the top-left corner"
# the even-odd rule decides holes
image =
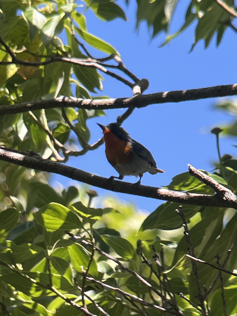
[[[47,48],[52,42],[56,27],[58,26],[58,23],[62,20],[64,15],[65,13],[54,15],[45,23],[45,25],[41,29],[40,39],[42,40],[42,42]]]

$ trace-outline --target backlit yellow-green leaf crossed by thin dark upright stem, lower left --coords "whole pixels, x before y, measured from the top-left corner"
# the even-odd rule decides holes
[[[68,250],[74,270],[80,273],[86,271],[91,254],[83,246],[77,243],[73,243],[72,245],[68,246]],[[94,258],[92,259],[89,268],[89,274],[93,276],[98,275],[97,265]]]

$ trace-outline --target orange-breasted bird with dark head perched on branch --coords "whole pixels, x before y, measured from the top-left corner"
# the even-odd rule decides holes
[[[157,168],[156,162],[146,147],[132,139],[129,133],[119,123],[101,125],[105,141],[105,153],[108,162],[119,173],[119,177],[111,176],[110,179],[123,180],[124,176],[140,177],[135,183],[141,184],[143,173],[164,173]]]

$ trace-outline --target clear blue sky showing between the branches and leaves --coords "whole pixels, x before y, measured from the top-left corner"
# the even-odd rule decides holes
[[[236,34],[232,30],[226,31],[218,48],[215,46],[215,40],[211,41],[208,49],[204,49],[204,42],[201,41],[195,46],[194,51],[189,53],[195,30],[195,24],[192,24],[167,46],[158,48],[165,40],[165,34],[151,41],[145,23],[142,23],[136,31],[135,1],[131,1],[128,8],[123,1],[117,3],[125,8],[129,21],[118,19],[109,23],[103,22],[98,20],[93,12],[88,11],[86,12],[88,32],[112,44],[131,72],[140,79],[149,80],[149,88],[144,94],[236,83],[237,60],[233,49]],[[183,24],[187,6],[188,2],[180,1],[174,14],[171,34]],[[109,76],[104,74],[103,76],[104,90],[99,92],[98,96],[108,95],[112,98],[132,96],[129,87]],[[196,168],[211,171],[212,161],[217,160],[217,153],[215,137],[210,133],[210,129],[215,126],[221,127],[233,120],[231,115],[213,109],[214,104],[220,100],[223,98],[150,105],[135,109],[131,117],[125,120],[122,126],[132,138],[151,151],[157,166],[166,171],[164,174],[157,175],[145,173],[142,178],[143,185],[157,187],[168,185],[175,175],[188,170],[188,163]],[[124,111],[124,109],[108,110],[107,116],[88,120],[91,131],[90,143],[94,143],[102,136],[96,122],[104,125],[115,122],[117,116]],[[233,144],[235,144],[234,138],[221,138],[221,154],[236,156],[236,148],[232,146]],[[117,175],[106,160],[104,145],[88,152],[85,156],[71,157],[67,164],[107,178]],[[53,175],[51,183],[55,181],[61,182],[65,187],[75,183],[65,177]],[[137,182],[137,179],[125,177],[123,181],[133,183]],[[163,203],[145,197],[94,189],[101,197],[119,197],[149,213]]]

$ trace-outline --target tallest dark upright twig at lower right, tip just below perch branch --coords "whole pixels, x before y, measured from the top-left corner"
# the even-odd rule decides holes
[[[194,249],[193,249],[193,246],[192,246],[191,237],[190,237],[189,230],[188,230],[188,227],[187,227],[187,222],[185,220],[185,216],[184,216],[184,212],[183,212],[183,209],[182,209],[182,205],[179,206],[179,210],[177,209],[175,211],[181,216],[182,221],[183,221],[184,236],[185,236],[187,250],[191,254],[192,257],[195,257]],[[206,309],[205,309],[205,304],[204,304],[204,295],[202,293],[201,282],[200,282],[200,278],[199,278],[199,275],[198,275],[197,265],[196,265],[195,261],[193,261],[193,260],[191,260],[191,264],[192,264],[192,271],[194,273],[196,284],[197,284],[197,292],[198,292],[197,298],[198,298],[198,300],[200,302],[200,306],[201,306],[203,312],[206,315]]]

